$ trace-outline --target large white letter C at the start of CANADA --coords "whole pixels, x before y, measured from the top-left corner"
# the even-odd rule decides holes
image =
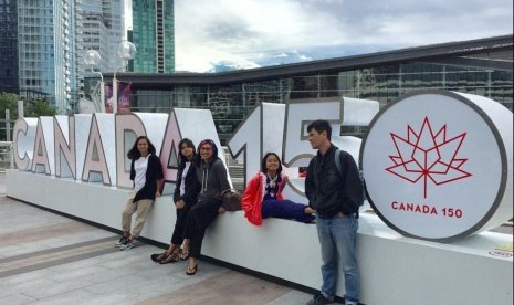
[[[32,169],[38,118],[18,118],[12,132],[14,162],[20,170]]]

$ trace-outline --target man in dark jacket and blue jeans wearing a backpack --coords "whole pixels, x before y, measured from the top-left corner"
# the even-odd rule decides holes
[[[317,154],[308,164],[305,194],[317,213],[316,228],[323,261],[322,288],[307,305],[334,301],[339,266],[345,274],[345,304],[358,304],[356,239],[358,208],[363,202],[359,170],[352,155],[332,144],[328,122],[314,120],[307,126],[307,132],[308,141]],[[339,158],[340,165],[336,158]]]

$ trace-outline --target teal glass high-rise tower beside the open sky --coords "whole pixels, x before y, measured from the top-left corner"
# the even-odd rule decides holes
[[[174,0],[133,0],[134,72],[175,71]]]

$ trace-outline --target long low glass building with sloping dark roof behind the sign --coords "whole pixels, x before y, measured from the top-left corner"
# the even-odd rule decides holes
[[[222,140],[262,102],[345,96],[384,106],[408,92],[440,88],[486,96],[512,111],[513,35],[242,71],[117,78],[132,82],[134,112],[211,109]]]

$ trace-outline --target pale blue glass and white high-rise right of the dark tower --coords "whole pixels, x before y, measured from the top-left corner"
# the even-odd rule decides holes
[[[20,95],[45,95],[62,114],[77,91],[75,1],[17,1]]]

